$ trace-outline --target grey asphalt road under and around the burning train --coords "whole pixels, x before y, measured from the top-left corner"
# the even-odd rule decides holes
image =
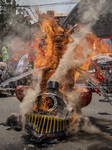
[[[11,113],[19,113],[19,104],[16,97],[0,97],[0,150],[112,150],[112,106],[102,96],[93,93],[90,105],[82,109],[101,133],[78,132],[47,147],[31,142],[24,129],[17,132],[6,125]]]

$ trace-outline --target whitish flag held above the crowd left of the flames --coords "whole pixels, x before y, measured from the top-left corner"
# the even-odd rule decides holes
[[[20,75],[24,72],[25,68],[28,66],[29,61],[28,61],[28,53],[25,54],[19,61],[18,66],[16,68],[16,75]]]

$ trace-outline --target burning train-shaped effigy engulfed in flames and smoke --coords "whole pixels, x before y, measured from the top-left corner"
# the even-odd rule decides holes
[[[92,92],[87,88],[76,89],[75,82],[79,73],[87,71],[92,57],[110,52],[106,44],[81,25],[63,29],[45,14],[40,28],[41,33],[35,34],[34,62],[35,68],[41,68],[39,78],[25,93],[24,87],[16,89],[21,92],[20,110],[25,129],[39,142],[84,129],[89,120],[82,116],[81,109],[91,102]],[[100,84],[97,79],[89,78]],[[95,127],[93,130],[98,131]]]

